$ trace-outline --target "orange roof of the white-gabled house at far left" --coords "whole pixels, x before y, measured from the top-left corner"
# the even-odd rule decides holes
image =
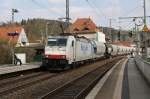
[[[21,33],[22,27],[21,26],[5,26],[0,27],[0,40],[9,41],[11,39],[11,42],[17,43],[19,35]],[[8,36],[8,33],[18,33],[17,36]]]

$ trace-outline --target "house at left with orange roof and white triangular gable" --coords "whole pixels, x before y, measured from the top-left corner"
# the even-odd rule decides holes
[[[21,26],[1,26],[0,40],[15,44],[15,46],[28,45],[28,38]]]

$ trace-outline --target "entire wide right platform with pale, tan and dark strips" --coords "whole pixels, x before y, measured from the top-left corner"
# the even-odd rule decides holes
[[[139,64],[135,58],[121,60],[98,82],[86,99],[150,99],[150,83],[145,79],[145,72],[137,66]]]

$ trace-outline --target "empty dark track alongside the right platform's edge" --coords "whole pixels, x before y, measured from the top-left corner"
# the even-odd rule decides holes
[[[94,85],[117,62],[107,63],[52,90],[39,99],[84,99]]]

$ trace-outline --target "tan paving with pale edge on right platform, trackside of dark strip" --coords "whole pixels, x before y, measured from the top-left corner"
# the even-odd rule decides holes
[[[93,88],[86,99],[113,99],[113,97],[121,97],[121,93],[115,93],[115,90],[121,90],[122,82],[118,82],[117,79],[123,79],[123,69],[127,59],[123,59],[118,62],[108,73],[99,81],[99,83]],[[121,71],[122,70],[122,71]],[[120,72],[121,71],[121,72]],[[121,74],[121,75],[119,75]],[[103,81],[105,79],[105,81]],[[116,87],[116,84],[119,84]],[[100,87],[101,86],[101,87]],[[96,94],[95,94],[96,93]],[[114,96],[115,95],[115,96]]]

